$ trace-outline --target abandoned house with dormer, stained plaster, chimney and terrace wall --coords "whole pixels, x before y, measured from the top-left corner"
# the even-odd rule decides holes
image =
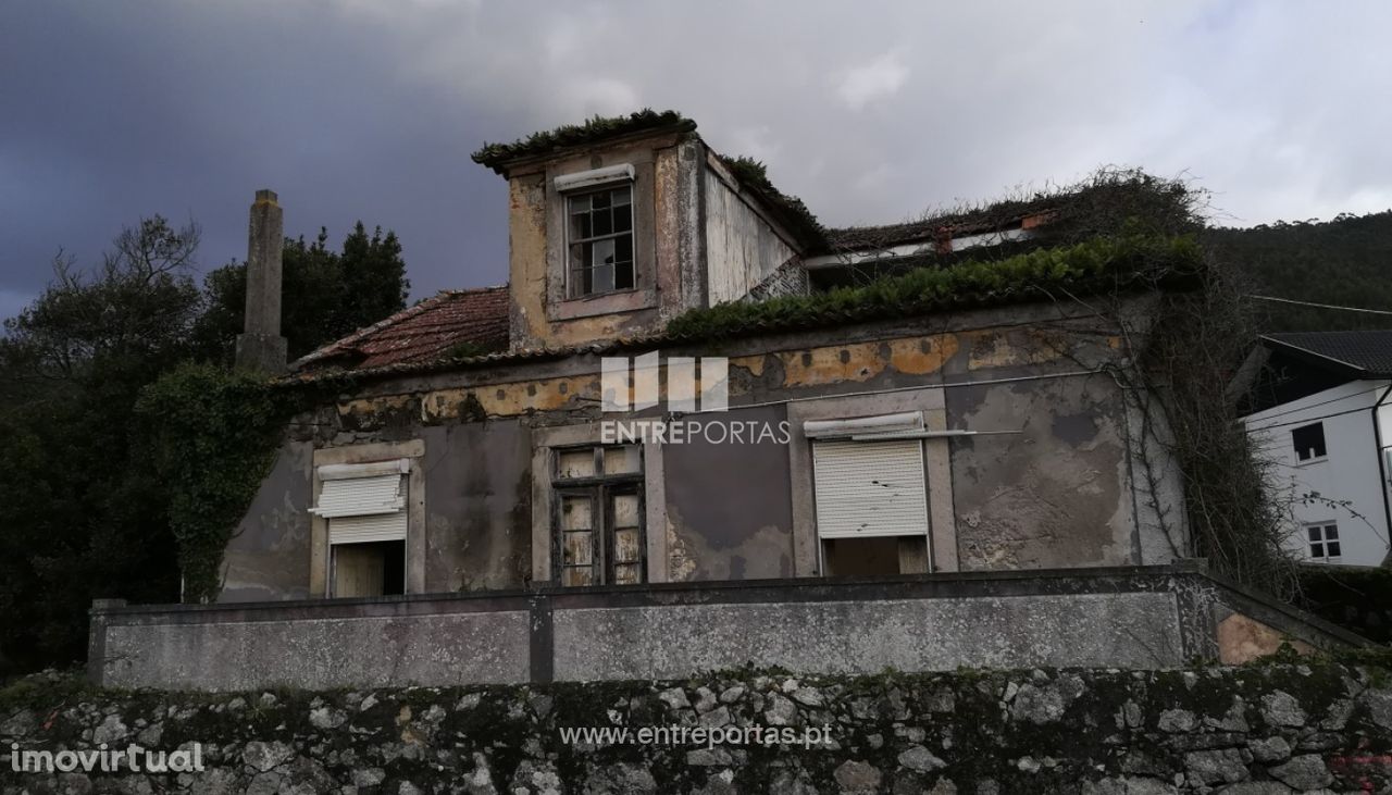
[[[1171,565],[1189,554],[1179,478],[1137,443],[1114,377],[1134,366],[1119,323],[1144,329],[1153,290],[1122,295],[1121,320],[999,290],[700,323],[1047,248],[1080,198],[828,230],[651,111],[475,159],[508,182],[508,284],[441,292],[291,362],[284,388],[340,391],[287,429],[219,603],[97,610],[99,677],[1164,666],[1217,656],[1232,618],[1254,647],[1335,642]],[[277,246],[258,242],[280,239],[274,195],[252,214],[239,351],[285,370]],[[703,610],[718,636],[690,635]],[[750,635],[784,621],[788,638]],[[390,664],[322,653],[345,645]]]

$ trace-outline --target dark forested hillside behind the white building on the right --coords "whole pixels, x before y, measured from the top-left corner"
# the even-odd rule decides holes
[[[1208,234],[1224,260],[1249,276],[1251,292],[1392,312],[1392,210]],[[1267,301],[1258,309],[1264,331],[1392,329],[1392,315]]]

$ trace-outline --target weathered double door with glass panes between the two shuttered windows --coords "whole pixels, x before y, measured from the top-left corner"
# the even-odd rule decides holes
[[[555,554],[561,585],[638,585],[644,578],[639,446],[555,451]]]

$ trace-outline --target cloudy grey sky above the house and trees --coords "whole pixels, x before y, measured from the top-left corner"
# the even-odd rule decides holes
[[[1228,224],[1392,207],[1392,4],[450,0],[0,3],[0,315],[60,246],[203,227],[401,237],[415,297],[507,278],[469,160],[590,114],[678,109],[831,226],[1100,164],[1186,174]]]

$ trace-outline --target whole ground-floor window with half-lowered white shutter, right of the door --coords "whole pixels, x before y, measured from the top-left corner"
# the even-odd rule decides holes
[[[928,571],[923,415],[813,420],[813,503],[827,576]]]

